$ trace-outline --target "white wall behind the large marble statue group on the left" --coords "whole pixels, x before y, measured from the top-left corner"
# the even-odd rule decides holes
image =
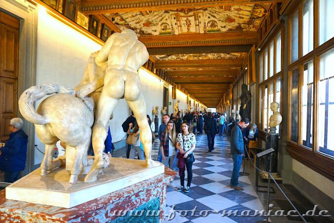
[[[38,20],[36,84],[53,83],[75,87],[81,80],[90,53],[99,50],[98,45],[79,32],[40,10]],[[141,89],[146,98],[147,114],[151,117],[153,107],[159,106],[159,122],[163,105],[163,82],[140,69]],[[36,104],[36,107],[39,103]],[[130,115],[130,109],[121,99],[110,121],[113,142],[124,138],[122,123]],[[44,145],[35,134],[35,144],[41,151]],[[35,165],[42,162],[43,154],[35,149]]]

